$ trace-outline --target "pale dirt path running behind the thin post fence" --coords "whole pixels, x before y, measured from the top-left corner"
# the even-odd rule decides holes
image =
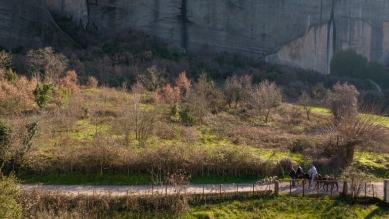
[[[332,191],[332,195],[336,196],[339,194],[339,191],[342,191],[342,183],[339,185],[339,189],[336,190],[336,187]],[[372,182],[366,186],[366,196],[374,196],[378,198],[383,198],[383,182]],[[69,194],[69,195],[151,195],[151,194],[173,194],[175,190],[172,186],[64,186],[64,185],[22,185],[23,190],[32,191],[34,189],[47,191],[48,193],[57,194]],[[202,194],[203,191],[207,193],[233,193],[233,192],[251,192],[251,191],[264,191],[264,190],[274,190],[274,184],[265,185],[265,184],[198,184],[198,185],[189,185],[186,188],[182,189],[182,193],[196,193]],[[302,185],[296,185],[296,187],[290,187],[289,182],[280,182],[281,194],[302,194],[303,188]],[[317,188],[308,188],[305,186],[305,194],[317,194]],[[329,195],[331,193],[331,187],[328,192],[319,189],[319,194]],[[361,196],[365,195],[365,190],[363,190]]]

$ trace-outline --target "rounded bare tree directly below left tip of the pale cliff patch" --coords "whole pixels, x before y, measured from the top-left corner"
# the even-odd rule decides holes
[[[276,83],[265,80],[255,86],[247,101],[259,113],[263,113],[264,122],[267,123],[273,109],[281,105],[282,91]]]

